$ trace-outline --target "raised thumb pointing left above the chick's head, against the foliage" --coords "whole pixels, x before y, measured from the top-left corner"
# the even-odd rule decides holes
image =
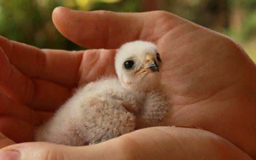
[[[167,12],[83,12],[64,7],[57,7],[52,18],[65,37],[79,45],[97,49],[117,49],[121,44],[137,39],[157,42],[171,28],[184,22]]]

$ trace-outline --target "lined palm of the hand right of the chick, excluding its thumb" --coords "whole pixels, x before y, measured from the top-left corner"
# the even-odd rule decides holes
[[[162,78],[172,104],[166,125],[199,126],[236,146],[252,140],[255,68],[243,51],[226,37],[200,27],[163,41],[169,44],[163,44],[162,53],[169,56],[163,57]],[[248,137],[242,136],[245,132]]]

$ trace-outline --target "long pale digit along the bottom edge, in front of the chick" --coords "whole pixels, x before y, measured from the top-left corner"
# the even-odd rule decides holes
[[[33,142],[3,148],[3,151],[6,152],[10,150],[19,153],[21,160],[63,159],[63,157],[78,160],[252,159],[213,133],[175,127],[143,129],[92,146],[71,147],[55,145],[54,143]]]

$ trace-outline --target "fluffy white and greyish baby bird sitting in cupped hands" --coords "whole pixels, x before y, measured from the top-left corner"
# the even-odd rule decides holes
[[[35,141],[91,145],[159,125],[168,107],[160,84],[161,63],[155,44],[123,44],[115,57],[118,78],[102,78],[78,89],[38,127]]]

